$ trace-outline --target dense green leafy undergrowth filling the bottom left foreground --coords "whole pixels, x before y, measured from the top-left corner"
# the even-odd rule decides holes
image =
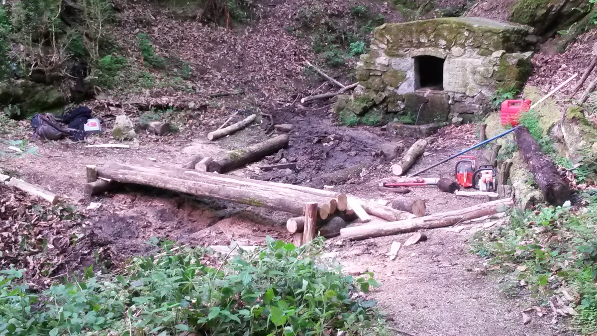
[[[261,250],[214,258],[164,242],[118,275],[90,267],[41,294],[22,271],[3,270],[0,335],[380,334],[376,302],[358,295],[378,286],[373,274],[345,276],[318,258],[322,248],[268,237]]]

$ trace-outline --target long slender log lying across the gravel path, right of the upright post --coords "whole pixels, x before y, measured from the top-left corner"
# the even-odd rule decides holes
[[[413,232],[421,229],[448,227],[459,222],[482,216],[505,212],[514,204],[512,198],[492,201],[450,212],[435,213],[421,218],[406,219],[404,221],[383,224],[365,224],[358,227],[347,227],[340,230],[340,236],[352,240],[362,240],[371,237],[390,236]]]

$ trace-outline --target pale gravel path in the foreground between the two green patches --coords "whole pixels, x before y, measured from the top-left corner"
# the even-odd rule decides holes
[[[330,246],[336,246],[337,259],[350,274],[374,272],[382,286],[371,296],[398,331],[414,336],[556,335],[549,320],[534,317],[524,325],[522,310],[528,303],[504,297],[495,279],[485,278],[482,260],[466,245],[481,225],[463,225],[461,233],[429,231],[426,242],[402,248],[395,261],[386,253],[408,234]]]

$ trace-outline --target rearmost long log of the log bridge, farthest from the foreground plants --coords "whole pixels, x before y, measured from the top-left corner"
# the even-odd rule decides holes
[[[312,199],[323,202],[326,198],[330,205],[330,211],[334,212],[336,209],[340,211],[346,210],[346,194],[337,193],[334,191],[325,191],[301,185],[284,184],[278,182],[268,182],[256,179],[240,178],[232,175],[221,175],[216,173],[199,172],[197,170],[180,169],[176,167],[168,167],[164,164],[154,162],[143,162],[144,166],[120,163],[106,163],[104,167],[111,169],[123,169],[131,171],[139,171],[146,173],[157,173],[165,176],[173,176],[176,178],[190,179],[198,182],[210,182],[212,184],[230,185],[235,188],[257,188],[260,190],[270,190],[272,193],[288,194],[291,197],[299,197],[304,199]]]

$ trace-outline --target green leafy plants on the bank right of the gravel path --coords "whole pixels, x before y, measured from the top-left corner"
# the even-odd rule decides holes
[[[505,275],[507,294],[530,292],[547,308],[558,297],[588,335],[597,332],[597,193],[583,196],[583,207],[513,212],[509,225],[479,231],[471,246]]]

